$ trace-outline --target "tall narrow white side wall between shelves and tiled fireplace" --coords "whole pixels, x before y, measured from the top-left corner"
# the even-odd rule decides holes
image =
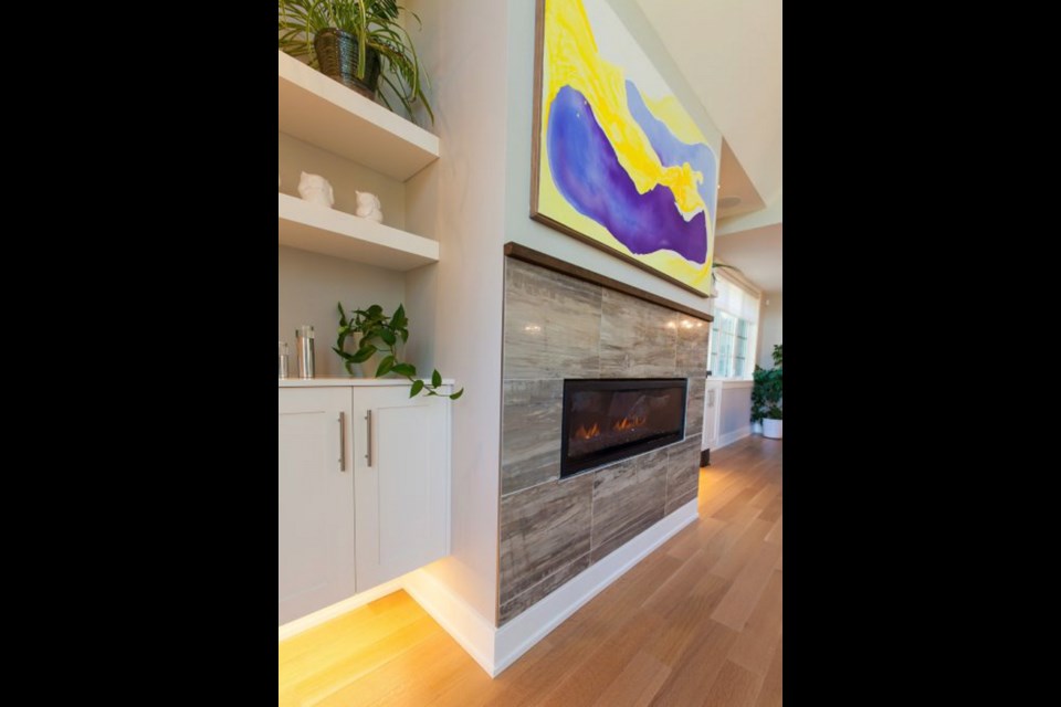
[[[437,266],[406,276],[410,321],[432,333],[410,350],[464,387],[453,403],[452,556],[426,571],[494,625],[501,458],[506,7],[409,0],[432,31],[413,33],[431,76],[441,158],[407,182],[409,228],[439,241]],[[412,341],[410,340],[410,344]]]

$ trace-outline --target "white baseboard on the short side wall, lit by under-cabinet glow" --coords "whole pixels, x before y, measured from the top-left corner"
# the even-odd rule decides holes
[[[451,592],[427,569],[401,578],[409,595],[461,644],[479,665],[493,677],[494,636],[497,630],[472,606]]]

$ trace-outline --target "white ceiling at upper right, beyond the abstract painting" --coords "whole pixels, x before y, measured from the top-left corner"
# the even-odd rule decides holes
[[[634,1],[725,138],[718,198],[742,204],[718,209],[715,252],[779,293],[781,0]]]

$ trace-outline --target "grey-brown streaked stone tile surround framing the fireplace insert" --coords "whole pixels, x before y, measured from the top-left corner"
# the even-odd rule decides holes
[[[696,497],[710,326],[505,258],[502,625]],[[560,481],[565,378],[689,378],[685,440]]]

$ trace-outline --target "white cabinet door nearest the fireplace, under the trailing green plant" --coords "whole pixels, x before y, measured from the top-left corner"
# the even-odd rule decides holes
[[[354,389],[357,591],[450,552],[450,400]]]

